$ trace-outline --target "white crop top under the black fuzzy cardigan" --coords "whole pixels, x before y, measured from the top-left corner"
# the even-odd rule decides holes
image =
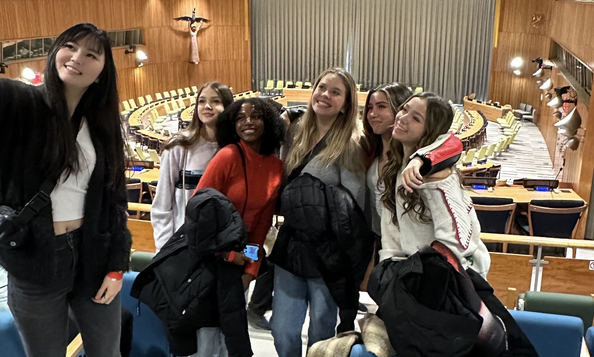
[[[68,178],[66,178],[65,174],[62,174],[50,195],[54,222],[79,220],[84,217],[85,196],[89,188],[91,173],[97,161],[86,118],[81,121],[76,142],[78,146],[78,173],[72,173]]]

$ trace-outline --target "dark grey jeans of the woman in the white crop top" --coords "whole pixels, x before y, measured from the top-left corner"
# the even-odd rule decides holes
[[[71,309],[87,357],[119,357],[122,328],[120,294],[109,305],[77,294],[78,243],[81,230],[55,237],[53,253],[62,277],[54,286],[39,286],[8,275],[8,306],[28,357],[64,357]]]

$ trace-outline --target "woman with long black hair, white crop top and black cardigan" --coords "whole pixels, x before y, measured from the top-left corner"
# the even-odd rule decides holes
[[[92,24],[58,36],[44,86],[0,80],[0,205],[21,211],[46,179],[57,182],[44,184],[50,202],[22,242],[0,231],[8,305],[29,357],[65,355],[68,309],[87,356],[119,356],[131,237],[118,103],[109,36]]]

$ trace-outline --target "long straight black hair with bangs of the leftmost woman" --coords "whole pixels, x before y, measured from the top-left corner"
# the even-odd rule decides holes
[[[89,38],[90,46],[105,55],[105,66],[86,90],[78,103],[89,124],[91,138],[103,146],[105,152],[106,179],[108,187],[124,177],[124,137],[122,117],[119,114],[118,80],[108,33],[93,24],[78,24],[61,33],[49,49],[45,67],[45,96],[52,109],[53,120],[49,125],[45,161],[50,162],[49,175],[78,171],[78,146],[72,127],[68,105],[64,96],[64,82],[56,68],[56,54],[67,42]]]

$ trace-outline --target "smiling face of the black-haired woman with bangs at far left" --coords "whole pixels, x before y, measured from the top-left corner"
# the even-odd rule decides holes
[[[77,42],[66,42],[56,52],[56,69],[65,86],[86,89],[97,81],[105,67],[105,54],[94,43],[87,36]]]

